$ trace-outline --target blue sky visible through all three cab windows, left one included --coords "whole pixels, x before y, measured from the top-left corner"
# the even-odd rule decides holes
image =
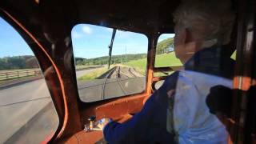
[[[103,26],[79,24],[71,31],[74,56],[98,58],[109,54],[112,29]],[[162,34],[158,42],[172,38],[174,34]],[[148,39],[144,34],[117,30],[112,55],[142,54],[147,52]],[[34,55],[16,30],[0,18],[0,58],[18,55]]]

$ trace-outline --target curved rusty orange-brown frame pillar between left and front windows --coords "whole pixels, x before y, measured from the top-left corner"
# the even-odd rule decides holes
[[[50,90],[50,95],[58,113],[59,120],[58,129],[56,130],[56,133],[52,135],[53,137],[50,142],[53,142],[54,139],[65,138],[66,136],[72,135],[78,130],[81,130],[82,126],[81,122],[79,122],[78,105],[77,102],[74,102],[76,101],[76,98],[70,98],[69,96],[70,92],[74,92],[74,90],[70,90],[70,92],[68,92],[68,87],[64,81],[65,78],[63,78],[63,70],[61,70],[63,67],[60,66],[49,54],[46,49],[46,47],[49,46],[46,43],[47,41],[38,41],[38,37],[40,36],[34,35],[36,33],[31,33],[30,31],[32,28],[25,26],[26,22],[24,22],[24,19],[20,19],[18,14],[14,11],[1,9],[0,14],[2,18],[5,18],[11,26],[14,26],[14,29],[17,30],[18,33],[26,40],[34,52],[34,55],[38,58],[39,65],[41,66],[42,72],[46,78],[46,84]],[[54,72],[46,74],[46,70],[49,70],[49,68]],[[75,83],[74,86],[76,86]],[[54,87],[60,89],[55,89]],[[72,103],[72,106],[70,106],[70,103]]]

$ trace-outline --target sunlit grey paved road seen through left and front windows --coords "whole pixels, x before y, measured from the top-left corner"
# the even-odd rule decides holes
[[[78,71],[77,77],[90,71],[92,70]],[[49,103],[53,106],[44,79],[0,90],[0,143],[6,142],[7,138],[10,138]],[[53,114],[53,117],[58,120],[57,114]]]

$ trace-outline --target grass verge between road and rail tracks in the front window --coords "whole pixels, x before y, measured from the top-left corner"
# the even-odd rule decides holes
[[[79,77],[78,80],[86,81],[86,80],[95,79],[95,78],[98,78],[99,76],[101,76],[102,74],[104,74],[106,71],[107,71],[106,67],[98,69],[98,70],[93,70],[90,73],[85,74],[82,77]]]

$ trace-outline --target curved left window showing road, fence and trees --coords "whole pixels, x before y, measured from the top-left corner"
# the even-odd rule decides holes
[[[30,47],[2,18],[0,31],[0,143],[40,143],[58,115]]]

